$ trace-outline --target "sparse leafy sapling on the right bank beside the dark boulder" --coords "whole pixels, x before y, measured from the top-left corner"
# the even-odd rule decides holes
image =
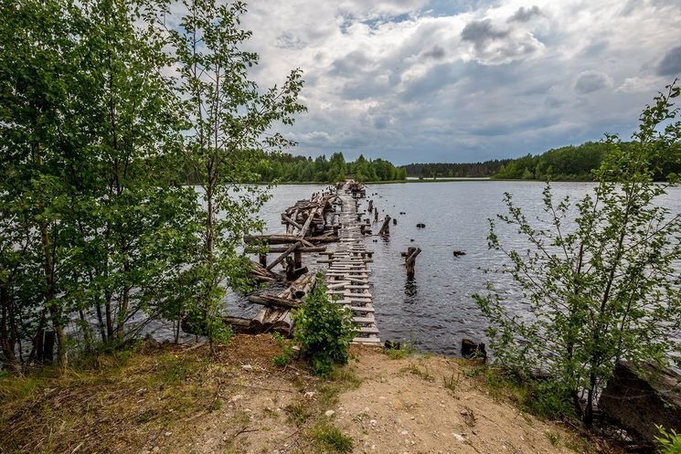
[[[489,246],[505,255],[500,271],[513,278],[517,302],[529,311],[509,310],[494,290],[474,295],[490,319],[496,360],[525,376],[548,372],[560,393],[542,405],[562,407],[567,394],[588,428],[618,361],[665,366],[681,346],[681,215],[660,203],[678,178],[654,183],[663,157],[681,159],[673,105],[680,93],[675,81],[644,109],[632,143],[606,137],[598,184],[576,206],[568,197],[555,200],[547,185],[547,219],[537,225],[505,195],[508,213],[498,220],[527,238],[528,248],[506,248],[490,220]]]

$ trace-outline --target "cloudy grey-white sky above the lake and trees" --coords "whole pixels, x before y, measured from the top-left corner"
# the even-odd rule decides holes
[[[475,162],[628,138],[681,76],[681,0],[251,0],[261,87],[303,69],[293,154]]]

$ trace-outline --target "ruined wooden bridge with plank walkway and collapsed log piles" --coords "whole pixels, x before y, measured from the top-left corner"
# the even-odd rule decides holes
[[[314,269],[303,265],[303,256],[315,256],[316,263],[329,265],[325,272],[328,294],[336,304],[353,312],[357,343],[379,344],[378,328],[369,293],[366,250],[363,236],[368,233],[358,211],[358,200],[366,196],[365,186],[346,181],[299,200],[282,213],[285,233],[246,236],[247,251],[260,256],[251,261],[250,277],[261,282],[283,284],[276,294],[264,289],[248,299],[262,305],[252,319],[225,317],[237,333],[293,333],[291,310],[300,306],[308,291],[316,285]],[[327,251],[327,248],[333,250]],[[269,261],[271,254],[278,254]],[[324,257],[324,259],[321,259]],[[275,272],[281,266],[282,273]]]

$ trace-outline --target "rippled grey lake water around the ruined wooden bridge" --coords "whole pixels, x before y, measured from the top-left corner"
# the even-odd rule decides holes
[[[261,218],[267,223],[267,233],[282,233],[282,210],[296,200],[308,198],[326,185],[281,185],[272,190],[271,200],[263,206]],[[588,192],[592,183],[554,183],[554,194],[569,195],[573,200]],[[405,341],[410,337],[417,348],[440,354],[458,354],[463,338],[484,340],[485,319],[476,307],[472,295],[484,292],[489,275],[481,268],[495,268],[501,256],[487,248],[487,219],[505,213],[502,197],[514,195],[518,206],[529,219],[543,215],[542,190],[539,182],[457,181],[369,185],[367,199],[360,209],[373,199],[382,219],[386,214],[397,218],[390,225],[390,237],[366,238],[368,250],[374,251],[370,290],[381,340]],[[376,193],[376,195],[371,195]],[[681,212],[681,188],[675,188],[660,203],[675,213]],[[399,212],[406,214],[399,215]],[[373,221],[373,216],[371,216]],[[425,228],[417,228],[423,223]],[[507,227],[497,223],[505,245],[524,248]],[[378,232],[379,226],[373,228]],[[411,241],[413,239],[413,241]],[[422,249],[416,260],[416,277],[408,281],[404,259],[400,252],[410,246]],[[453,257],[454,249],[465,251],[463,257]],[[313,256],[306,257],[308,267]],[[496,279],[500,279],[497,275]],[[499,280],[497,288],[512,294],[507,278]],[[229,299],[232,311],[255,314],[243,299]],[[522,308],[518,308],[522,310]]]

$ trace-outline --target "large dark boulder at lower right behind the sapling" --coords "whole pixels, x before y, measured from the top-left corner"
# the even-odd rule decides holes
[[[681,432],[679,384],[681,375],[671,370],[659,372],[646,365],[640,374],[622,362],[603,389],[599,409],[633,437],[654,444],[654,437],[659,436],[655,425]]]

